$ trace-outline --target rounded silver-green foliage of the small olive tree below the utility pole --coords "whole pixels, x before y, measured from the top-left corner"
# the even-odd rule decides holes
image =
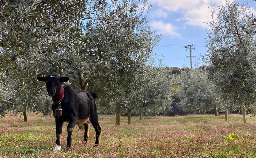
[[[214,106],[218,105],[217,89],[208,79],[204,70],[200,68],[184,69],[178,78],[178,97],[182,109],[196,113],[198,109],[201,111],[212,110]]]

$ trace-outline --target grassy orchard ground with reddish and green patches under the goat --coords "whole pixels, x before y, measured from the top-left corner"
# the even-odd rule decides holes
[[[89,144],[84,145],[84,131],[73,132],[73,150],[66,152],[67,123],[63,125],[62,149],[56,145],[54,118],[28,114],[28,122],[8,114],[0,119],[0,157],[256,157],[255,117],[242,115],[100,117],[101,145],[93,147],[95,131],[90,128]]]

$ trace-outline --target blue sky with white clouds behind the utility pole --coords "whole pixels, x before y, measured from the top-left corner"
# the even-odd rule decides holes
[[[256,2],[238,0],[239,4],[248,2],[251,11],[256,15]],[[152,5],[148,14],[148,24],[156,34],[162,34],[153,53],[163,55],[161,59],[165,66],[190,67],[190,49],[192,67],[204,65],[202,55],[206,53],[206,28],[204,22],[211,21],[210,10],[225,0],[149,0]],[[187,48],[185,48],[187,47]],[[159,62],[156,60],[156,65]]]

